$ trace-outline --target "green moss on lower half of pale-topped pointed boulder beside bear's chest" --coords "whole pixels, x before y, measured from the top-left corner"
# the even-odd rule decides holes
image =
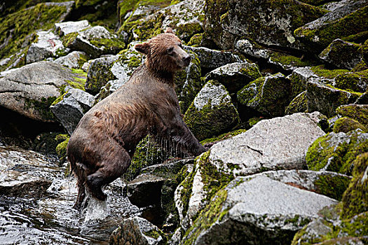
[[[210,80],[208,83],[217,85],[213,80]],[[224,97],[227,95],[227,93],[224,94]],[[211,99],[209,99],[207,104],[199,110],[196,109],[193,102],[186,111],[184,122],[198,140],[231,130],[240,122],[235,106],[231,102],[224,102],[224,99],[220,99],[220,101],[222,101],[221,104],[212,108]]]

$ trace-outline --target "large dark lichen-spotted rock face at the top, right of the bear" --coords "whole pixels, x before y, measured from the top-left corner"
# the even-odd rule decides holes
[[[268,46],[300,48],[294,29],[324,13],[325,10],[293,0],[284,3],[268,0],[212,1],[206,8],[205,30],[222,49],[233,48],[239,37]],[[299,18],[292,18],[294,15]]]

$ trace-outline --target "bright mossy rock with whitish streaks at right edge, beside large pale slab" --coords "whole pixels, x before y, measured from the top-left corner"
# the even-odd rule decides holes
[[[308,148],[306,163],[314,171],[327,170],[340,174],[351,174],[353,161],[368,151],[368,134],[361,130],[331,132],[318,138]]]

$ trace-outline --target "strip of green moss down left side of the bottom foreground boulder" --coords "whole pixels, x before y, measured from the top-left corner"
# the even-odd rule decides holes
[[[185,239],[182,241],[183,244],[194,244],[200,232],[207,230],[211,225],[219,220],[219,218],[224,218],[227,214],[227,210],[223,209],[224,202],[227,198],[227,191],[222,189],[212,198],[210,204],[200,211],[200,214],[196,221],[193,222],[191,228],[186,231]]]

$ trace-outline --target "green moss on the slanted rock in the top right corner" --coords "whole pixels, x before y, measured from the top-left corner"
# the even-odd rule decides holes
[[[368,7],[364,6],[339,20],[322,25],[318,29],[306,29],[299,26],[300,28],[296,29],[294,34],[311,45],[311,48],[315,48],[316,52],[320,52],[320,50],[327,47],[336,38],[367,31],[368,22],[365,18],[367,15]]]

